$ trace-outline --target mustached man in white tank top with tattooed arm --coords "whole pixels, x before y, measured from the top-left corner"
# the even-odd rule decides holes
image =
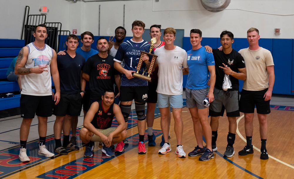
[[[23,121],[20,127],[20,153],[21,162],[29,162],[26,154],[26,142],[29,136],[31,122],[38,116],[39,122],[39,151],[38,155],[53,157],[45,147],[47,133],[47,119],[52,116],[53,100],[59,103],[59,73],[56,63],[56,52],[45,44],[47,28],[39,24],[34,30],[34,42],[21,49],[16,60],[14,73],[22,75],[20,110]],[[55,86],[55,95],[51,88],[51,75]],[[53,98],[53,99],[52,99]]]

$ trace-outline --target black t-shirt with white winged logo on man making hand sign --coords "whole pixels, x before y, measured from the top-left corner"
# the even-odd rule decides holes
[[[220,68],[224,67],[223,63],[231,68],[231,70],[235,72],[239,72],[238,68],[245,68],[245,62],[244,58],[241,56],[240,53],[235,51],[234,49],[229,54],[223,53],[223,51],[219,51],[218,49],[213,49],[213,56],[214,61],[216,64],[216,84],[215,87],[223,90],[223,78],[225,76],[225,72],[223,72],[223,69]],[[232,83],[232,89],[228,89],[231,91],[239,90],[239,80],[231,75],[230,80]]]

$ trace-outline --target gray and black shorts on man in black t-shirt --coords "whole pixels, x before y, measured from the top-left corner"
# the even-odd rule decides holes
[[[213,95],[216,99],[210,103],[209,116],[223,116],[225,111],[228,117],[240,116],[238,91],[223,91],[214,88]]]

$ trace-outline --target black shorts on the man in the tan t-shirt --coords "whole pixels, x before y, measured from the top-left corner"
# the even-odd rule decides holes
[[[268,91],[268,88],[261,91],[247,91],[242,89],[241,97],[239,101],[240,112],[242,113],[254,113],[269,114],[270,113],[270,100],[264,101],[264,94]]]

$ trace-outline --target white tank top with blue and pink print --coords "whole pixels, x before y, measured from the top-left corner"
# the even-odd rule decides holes
[[[43,49],[39,49],[32,42],[26,45],[29,48],[28,60],[24,68],[36,68],[48,66],[49,71],[41,74],[30,73],[21,77],[21,94],[32,96],[49,96],[52,95],[50,63],[53,57],[53,50],[45,44]]]

